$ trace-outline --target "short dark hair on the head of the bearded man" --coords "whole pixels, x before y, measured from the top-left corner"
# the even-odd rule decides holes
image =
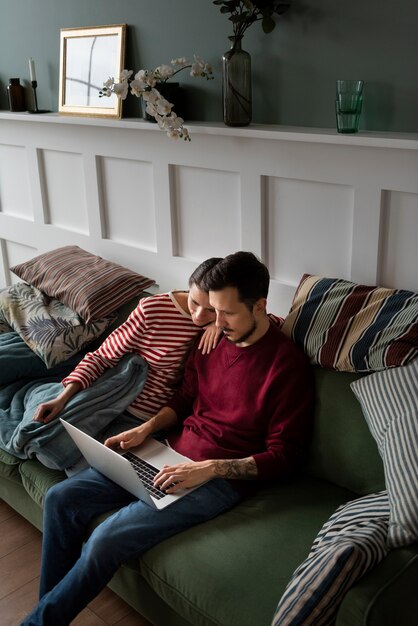
[[[229,254],[209,270],[202,280],[205,291],[235,287],[241,302],[251,309],[260,298],[267,298],[270,274],[252,252]]]

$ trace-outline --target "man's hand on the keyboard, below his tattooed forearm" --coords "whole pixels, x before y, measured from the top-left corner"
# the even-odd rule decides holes
[[[188,461],[164,465],[154,478],[154,485],[166,493],[190,489],[214,478],[213,461]]]

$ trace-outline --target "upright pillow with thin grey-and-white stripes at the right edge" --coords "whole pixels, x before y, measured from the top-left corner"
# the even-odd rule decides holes
[[[379,448],[389,494],[388,545],[418,541],[418,360],[351,384]]]

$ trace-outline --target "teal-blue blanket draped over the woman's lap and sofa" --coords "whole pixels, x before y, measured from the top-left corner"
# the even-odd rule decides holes
[[[80,452],[59,420],[41,424],[32,419],[38,404],[62,391],[60,381],[76,362],[71,359],[47,370],[16,333],[0,335],[1,449],[21,459],[36,457],[53,469],[79,461]],[[60,417],[99,436],[140,393],[146,374],[147,364],[140,356],[126,355],[91,387],[73,396]]]

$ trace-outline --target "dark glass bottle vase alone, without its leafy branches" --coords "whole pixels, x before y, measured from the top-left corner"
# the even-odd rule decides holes
[[[241,48],[242,37],[228,37],[230,49],[222,57],[223,117],[227,126],[251,122],[251,57]]]

